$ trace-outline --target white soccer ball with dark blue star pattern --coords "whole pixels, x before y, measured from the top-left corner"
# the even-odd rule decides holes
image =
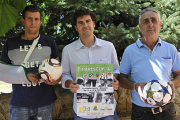
[[[163,80],[151,80],[143,88],[143,96],[153,106],[163,106],[172,97],[170,85]]]

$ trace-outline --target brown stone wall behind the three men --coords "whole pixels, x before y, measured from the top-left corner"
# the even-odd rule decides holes
[[[61,85],[56,85],[56,94],[58,99],[54,102],[53,120],[73,120],[73,94],[65,90]],[[9,101],[11,94],[0,94],[0,120],[9,119]],[[116,111],[119,119],[131,115],[130,90],[119,88],[115,91],[117,101]],[[180,115],[180,87],[176,89],[176,98],[174,99],[177,115]]]

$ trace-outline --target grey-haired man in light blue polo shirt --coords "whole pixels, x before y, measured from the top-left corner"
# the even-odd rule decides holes
[[[180,86],[180,58],[175,46],[159,37],[161,21],[159,13],[151,8],[144,9],[139,16],[142,38],[129,45],[120,64],[120,86],[131,89],[132,120],[176,120],[174,104],[171,102],[157,108],[153,114],[151,106],[142,101],[139,87],[153,79],[164,80],[172,89]],[[171,74],[174,79],[171,81]],[[128,80],[131,75],[131,80]],[[173,97],[174,98],[174,97]],[[158,113],[159,112],[159,113]]]

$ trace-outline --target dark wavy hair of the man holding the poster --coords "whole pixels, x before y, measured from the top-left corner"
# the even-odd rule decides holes
[[[72,25],[75,26],[77,23],[77,18],[82,17],[83,15],[90,15],[92,21],[94,21],[96,23],[96,15],[94,14],[94,12],[90,11],[87,8],[79,8],[79,9],[76,9],[76,11],[73,15]]]

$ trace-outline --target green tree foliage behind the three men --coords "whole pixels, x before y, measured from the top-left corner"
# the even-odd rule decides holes
[[[78,33],[71,24],[71,17],[79,7],[87,7],[96,13],[94,33],[97,37],[114,43],[119,59],[124,49],[141,37],[138,19],[140,11],[146,7],[155,8],[161,14],[160,38],[180,49],[179,0],[0,0],[0,21],[5,20],[0,22],[0,49],[7,38],[23,32],[21,11],[26,4],[41,7],[43,22],[40,34],[55,39],[60,52],[65,45],[78,38]]]

